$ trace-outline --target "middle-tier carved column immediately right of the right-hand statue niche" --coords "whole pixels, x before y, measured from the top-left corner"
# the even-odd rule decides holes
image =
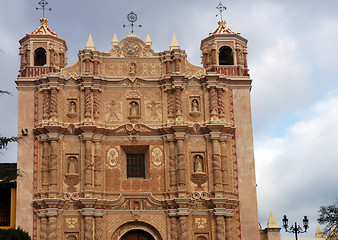
[[[219,135],[220,133],[210,133],[211,141],[212,141],[212,165],[213,165],[215,191],[222,190],[222,172],[221,172]]]

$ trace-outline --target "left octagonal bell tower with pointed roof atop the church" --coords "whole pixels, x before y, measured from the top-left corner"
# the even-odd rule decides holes
[[[31,34],[26,34],[20,43],[20,76],[36,77],[59,72],[66,66],[67,45],[48,26],[46,18]]]

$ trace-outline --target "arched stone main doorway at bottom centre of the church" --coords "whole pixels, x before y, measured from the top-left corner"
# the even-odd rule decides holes
[[[135,235],[141,237],[139,240],[163,240],[161,234],[155,227],[141,221],[128,222],[121,225],[113,233],[111,240],[138,239],[133,238]]]

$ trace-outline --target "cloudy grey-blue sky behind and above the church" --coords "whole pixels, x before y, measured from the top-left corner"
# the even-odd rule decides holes
[[[18,41],[39,26],[37,0],[2,1],[0,8],[0,134],[16,135]],[[147,33],[156,51],[168,50],[172,34],[200,66],[200,42],[217,28],[215,0],[50,0],[48,26],[68,45],[68,66],[86,45],[108,52],[114,33],[130,33],[126,15],[138,14],[135,29]],[[224,0],[223,18],[248,42],[256,161],[258,214],[262,227],[270,210],[281,226],[310,220],[314,236],[318,209],[338,198],[338,1]],[[20,143],[19,143],[20,144]],[[0,162],[16,161],[16,144]],[[292,236],[281,230],[282,236]]]

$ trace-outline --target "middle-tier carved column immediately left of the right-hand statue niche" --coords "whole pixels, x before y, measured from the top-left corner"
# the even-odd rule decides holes
[[[185,190],[184,133],[175,133],[177,145],[177,181],[178,190]]]

